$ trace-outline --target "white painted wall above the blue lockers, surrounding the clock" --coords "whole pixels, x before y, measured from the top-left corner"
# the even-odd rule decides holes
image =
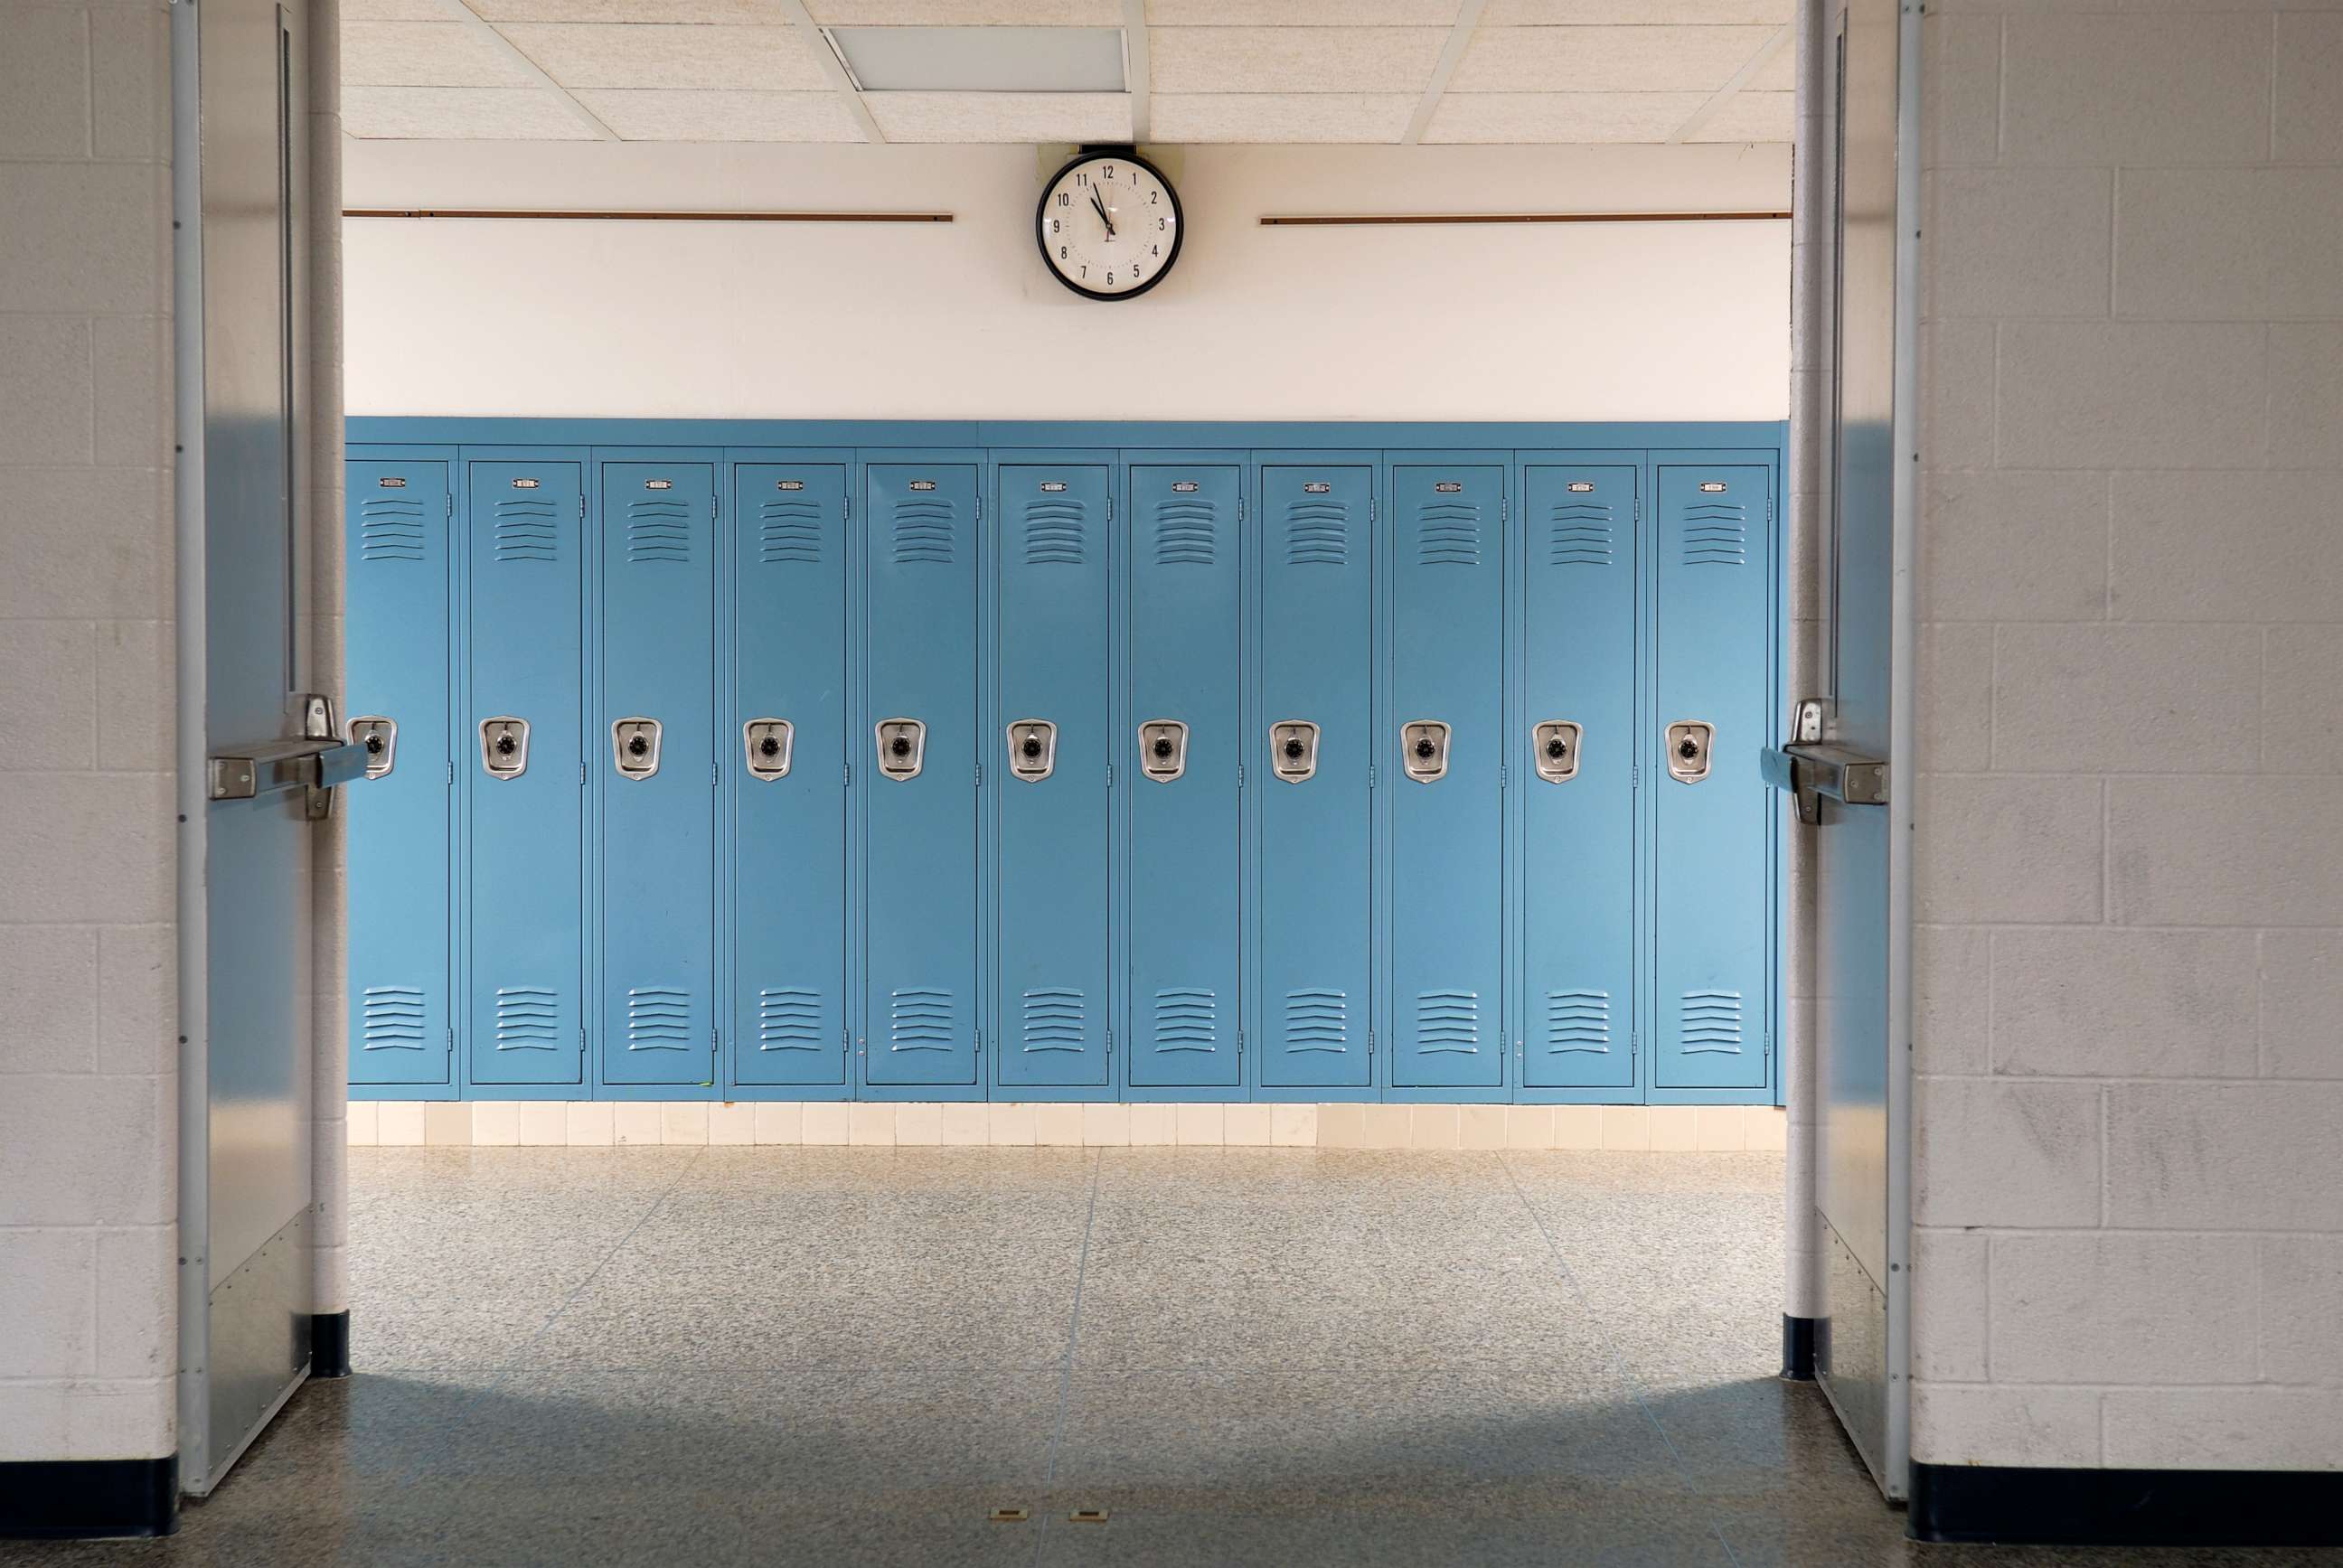
[[[1033,253],[1033,148],[349,145],[351,206],[933,209],[951,225],[351,220],[349,413],[1778,420],[1788,223],[1263,230],[1263,213],[1788,209],[1788,148],[1190,148],[1179,272]]]

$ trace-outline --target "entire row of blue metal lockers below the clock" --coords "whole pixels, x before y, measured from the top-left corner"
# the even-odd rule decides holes
[[[1781,436],[351,420],[351,1092],[1774,1099]]]

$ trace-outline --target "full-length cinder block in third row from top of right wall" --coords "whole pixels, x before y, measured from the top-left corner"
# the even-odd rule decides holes
[[[1996,452],[2010,469],[2259,464],[2261,340],[2259,323],[2006,321]]]

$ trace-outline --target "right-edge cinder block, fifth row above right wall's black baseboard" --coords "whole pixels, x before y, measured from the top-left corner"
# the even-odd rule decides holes
[[[2343,778],[2113,778],[2106,790],[2116,923],[2343,926]]]

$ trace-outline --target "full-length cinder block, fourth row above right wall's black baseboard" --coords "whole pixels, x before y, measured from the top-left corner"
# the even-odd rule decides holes
[[[1996,930],[1994,1071],[2252,1078],[2254,933]]]

